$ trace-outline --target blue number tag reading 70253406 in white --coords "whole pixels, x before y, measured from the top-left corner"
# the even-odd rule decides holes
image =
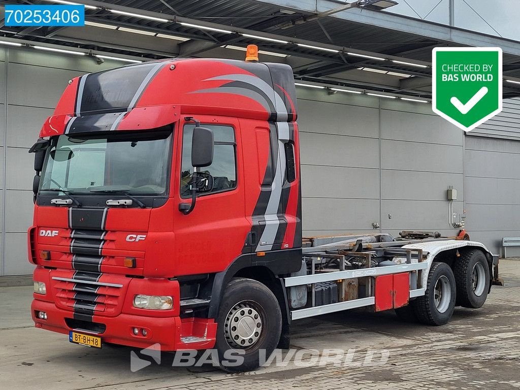
[[[5,5],[7,27],[85,25],[84,5]]]

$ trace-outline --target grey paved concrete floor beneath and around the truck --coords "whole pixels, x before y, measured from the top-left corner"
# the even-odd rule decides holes
[[[171,360],[130,370],[131,350],[94,350],[35,329],[32,288],[0,289],[0,387],[5,389],[519,389],[520,261],[500,262],[504,287],[493,287],[481,309],[457,308],[443,327],[399,322],[393,312],[346,311],[296,321],[298,350],[351,349],[346,364],[311,367],[290,361],[244,374],[172,368]],[[367,350],[388,353],[363,366]],[[166,361],[165,361],[166,360]],[[342,359],[345,361],[345,359]],[[377,364],[377,360],[374,360]]]

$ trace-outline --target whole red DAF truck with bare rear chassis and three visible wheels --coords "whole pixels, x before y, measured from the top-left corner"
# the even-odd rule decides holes
[[[484,304],[464,238],[302,239],[293,73],[168,59],[69,81],[31,148],[37,328],[91,347],[288,348],[291,321],[357,307],[446,323]],[[316,184],[327,190],[327,183]]]

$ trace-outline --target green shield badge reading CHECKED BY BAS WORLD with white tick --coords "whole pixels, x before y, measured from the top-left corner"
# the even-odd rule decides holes
[[[433,111],[466,132],[502,111],[502,49],[433,49]]]

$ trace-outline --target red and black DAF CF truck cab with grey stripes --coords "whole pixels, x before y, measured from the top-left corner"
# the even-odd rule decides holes
[[[165,60],[71,80],[32,149],[36,327],[213,347],[232,277],[301,268],[295,120],[282,64]]]

